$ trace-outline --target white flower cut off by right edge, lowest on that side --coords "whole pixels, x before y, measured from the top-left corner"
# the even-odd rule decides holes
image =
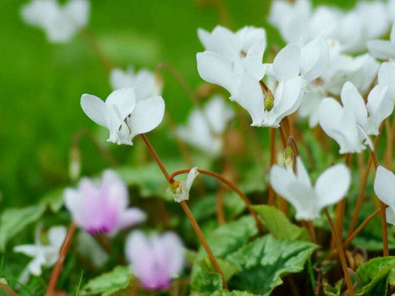
[[[395,225],[395,175],[383,166],[378,166],[374,177],[374,192],[386,205],[387,222]]]

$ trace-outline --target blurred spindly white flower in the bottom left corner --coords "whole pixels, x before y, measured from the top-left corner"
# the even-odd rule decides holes
[[[41,227],[37,227],[34,245],[19,245],[14,247],[14,252],[23,253],[34,259],[22,272],[19,281],[26,284],[29,281],[29,274],[41,275],[41,267],[51,267],[59,257],[60,247],[66,237],[65,226],[53,226],[47,232],[48,243],[43,244],[40,240]]]

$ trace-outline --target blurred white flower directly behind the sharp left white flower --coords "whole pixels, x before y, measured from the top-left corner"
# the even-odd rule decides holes
[[[113,90],[131,87],[134,89],[136,101],[147,99],[161,94],[162,89],[156,82],[155,75],[147,70],[141,69],[135,73],[134,68],[129,66],[126,71],[113,69],[110,74],[110,84]]]

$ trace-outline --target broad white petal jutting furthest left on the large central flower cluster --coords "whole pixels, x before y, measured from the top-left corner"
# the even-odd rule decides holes
[[[200,77],[210,83],[232,91],[232,63],[217,53],[205,51],[196,54],[197,71]]]

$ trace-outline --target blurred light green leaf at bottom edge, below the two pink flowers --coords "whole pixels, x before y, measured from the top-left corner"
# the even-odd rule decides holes
[[[131,281],[130,270],[127,266],[118,265],[112,271],[103,273],[89,280],[81,289],[81,296],[102,295],[110,296],[120,289],[125,289]]]

